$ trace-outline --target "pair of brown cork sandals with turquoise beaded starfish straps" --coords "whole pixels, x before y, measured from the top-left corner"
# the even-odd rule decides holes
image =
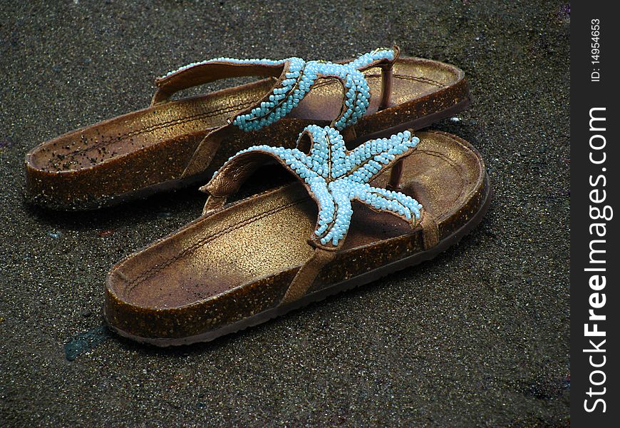
[[[171,100],[239,76],[263,79]],[[150,107],[26,156],[27,198],[59,210],[208,180],[200,218],[108,273],[105,320],[133,340],[213,340],[416,265],[458,242],[490,203],[475,148],[413,135],[470,105],[454,66],[395,46],[334,63],[217,58],[155,83]],[[298,180],[227,203],[267,163]]]

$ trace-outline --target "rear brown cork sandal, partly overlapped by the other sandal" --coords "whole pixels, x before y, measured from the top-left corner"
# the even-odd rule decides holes
[[[241,76],[264,79],[171,100],[177,91]],[[234,153],[256,141],[294,142],[311,123],[344,130],[354,143],[423,128],[470,103],[463,71],[399,56],[396,47],[340,63],[216,58],[155,83],[150,107],[33,148],[26,198],[58,210],[101,208],[204,183]]]

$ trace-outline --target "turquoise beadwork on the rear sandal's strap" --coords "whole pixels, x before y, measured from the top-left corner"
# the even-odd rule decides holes
[[[222,57],[188,64],[175,71],[170,71],[166,76],[192,66],[207,63],[284,64],[286,69],[285,78],[272,90],[269,94],[269,99],[262,101],[259,106],[252,108],[249,113],[239,114],[239,116],[233,119],[233,125],[239,127],[242,131],[256,131],[279,121],[279,119],[289,114],[299,104],[318,78],[336,77],[343,83],[345,99],[340,116],[331,123],[331,126],[341,130],[356,123],[358,118],[363,116],[368,108],[371,96],[370,88],[359,68],[383,59],[392,61],[394,56],[395,52],[393,49],[376,49],[367,54],[360,55],[355,60],[345,64],[336,64],[329,61],[304,61],[296,57],[280,61],[264,58],[237,59]]]

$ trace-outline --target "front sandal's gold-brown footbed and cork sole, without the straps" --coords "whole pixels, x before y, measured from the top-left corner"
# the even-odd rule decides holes
[[[418,133],[402,189],[438,222],[440,238],[482,210],[489,188],[480,155],[461,138]],[[386,171],[372,185],[383,187]],[[344,247],[309,294],[423,253],[420,226],[355,204]],[[105,317],[117,331],[149,342],[205,332],[277,307],[313,248],[316,204],[300,183],[227,205],[129,256],[110,270]],[[403,268],[403,267],[398,267]],[[396,270],[396,268],[395,268]]]

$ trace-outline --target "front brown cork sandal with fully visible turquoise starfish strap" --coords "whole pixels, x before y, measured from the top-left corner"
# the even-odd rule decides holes
[[[295,149],[238,153],[203,188],[201,218],[110,270],[105,319],[153,345],[209,341],[433,258],[480,222],[490,187],[470,144],[418,135],[347,151],[309,126]],[[226,205],[269,161],[299,181]]]

